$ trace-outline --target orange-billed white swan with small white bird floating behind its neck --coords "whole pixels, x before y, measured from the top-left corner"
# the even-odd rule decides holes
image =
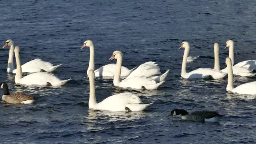
[[[184,56],[182,60],[182,68],[181,68],[181,76],[182,78],[188,78],[188,79],[198,79],[198,78],[214,78],[214,79],[220,79],[224,78],[227,73],[221,72],[220,70],[215,70],[211,68],[198,68],[197,70],[193,70],[192,72],[186,72],[186,63],[187,63],[187,57],[189,54],[189,44],[188,42],[182,42],[180,49],[185,48],[184,50]]]

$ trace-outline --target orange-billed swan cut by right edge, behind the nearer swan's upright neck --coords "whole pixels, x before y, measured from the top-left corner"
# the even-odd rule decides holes
[[[250,71],[256,70],[256,60],[245,60],[234,65],[234,42],[232,40],[226,42],[226,47],[224,49],[227,48],[229,48],[228,57],[231,58],[232,66],[242,66]]]

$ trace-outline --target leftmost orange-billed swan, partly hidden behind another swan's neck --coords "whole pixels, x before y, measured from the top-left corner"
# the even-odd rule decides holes
[[[14,69],[14,66],[13,66],[14,42],[10,39],[6,40],[3,48],[6,48],[7,46],[10,47],[7,72],[12,72],[15,74],[16,69]],[[21,67],[22,67],[22,72],[29,72],[29,73],[41,72],[41,71],[53,72],[54,70],[56,70],[56,68],[60,67],[61,65],[62,64],[53,66],[53,64],[51,64],[50,62],[45,62],[37,58],[23,64]]]

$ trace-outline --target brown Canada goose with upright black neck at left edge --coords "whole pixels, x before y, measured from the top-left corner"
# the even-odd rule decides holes
[[[8,90],[8,86],[6,82],[0,83],[1,88],[4,89],[4,94],[2,96],[2,99],[8,103],[12,104],[31,104],[34,102],[34,97],[33,96],[28,96],[24,94],[10,94]]]

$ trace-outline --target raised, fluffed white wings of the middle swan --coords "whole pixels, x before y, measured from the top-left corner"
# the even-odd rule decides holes
[[[135,76],[145,76],[150,77],[156,74],[161,74],[159,66],[155,64],[156,62],[145,62],[141,64],[136,70],[134,70],[127,78],[132,78]]]

